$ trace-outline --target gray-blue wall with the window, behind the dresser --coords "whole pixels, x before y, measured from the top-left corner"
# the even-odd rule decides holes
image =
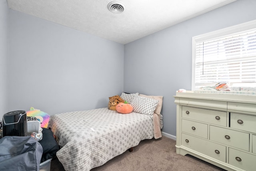
[[[256,20],[256,0],[238,0],[124,46],[124,91],[163,95],[163,131],[176,136],[178,89],[191,89],[192,37]]]

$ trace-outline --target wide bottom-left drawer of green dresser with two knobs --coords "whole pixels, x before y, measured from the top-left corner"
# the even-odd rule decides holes
[[[220,161],[226,162],[226,146],[212,143],[204,139],[193,137],[182,133],[182,143],[184,147],[198,151]]]

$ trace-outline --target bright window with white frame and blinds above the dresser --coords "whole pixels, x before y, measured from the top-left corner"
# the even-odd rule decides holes
[[[192,41],[192,90],[223,81],[256,87],[256,20]]]

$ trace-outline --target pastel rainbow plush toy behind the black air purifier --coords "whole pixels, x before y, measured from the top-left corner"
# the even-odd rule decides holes
[[[36,117],[36,119],[40,121],[42,128],[48,127],[50,115],[48,115],[47,113],[40,111],[39,109],[34,109],[34,107],[30,107],[29,111],[27,111],[26,113],[27,113],[27,116]]]

